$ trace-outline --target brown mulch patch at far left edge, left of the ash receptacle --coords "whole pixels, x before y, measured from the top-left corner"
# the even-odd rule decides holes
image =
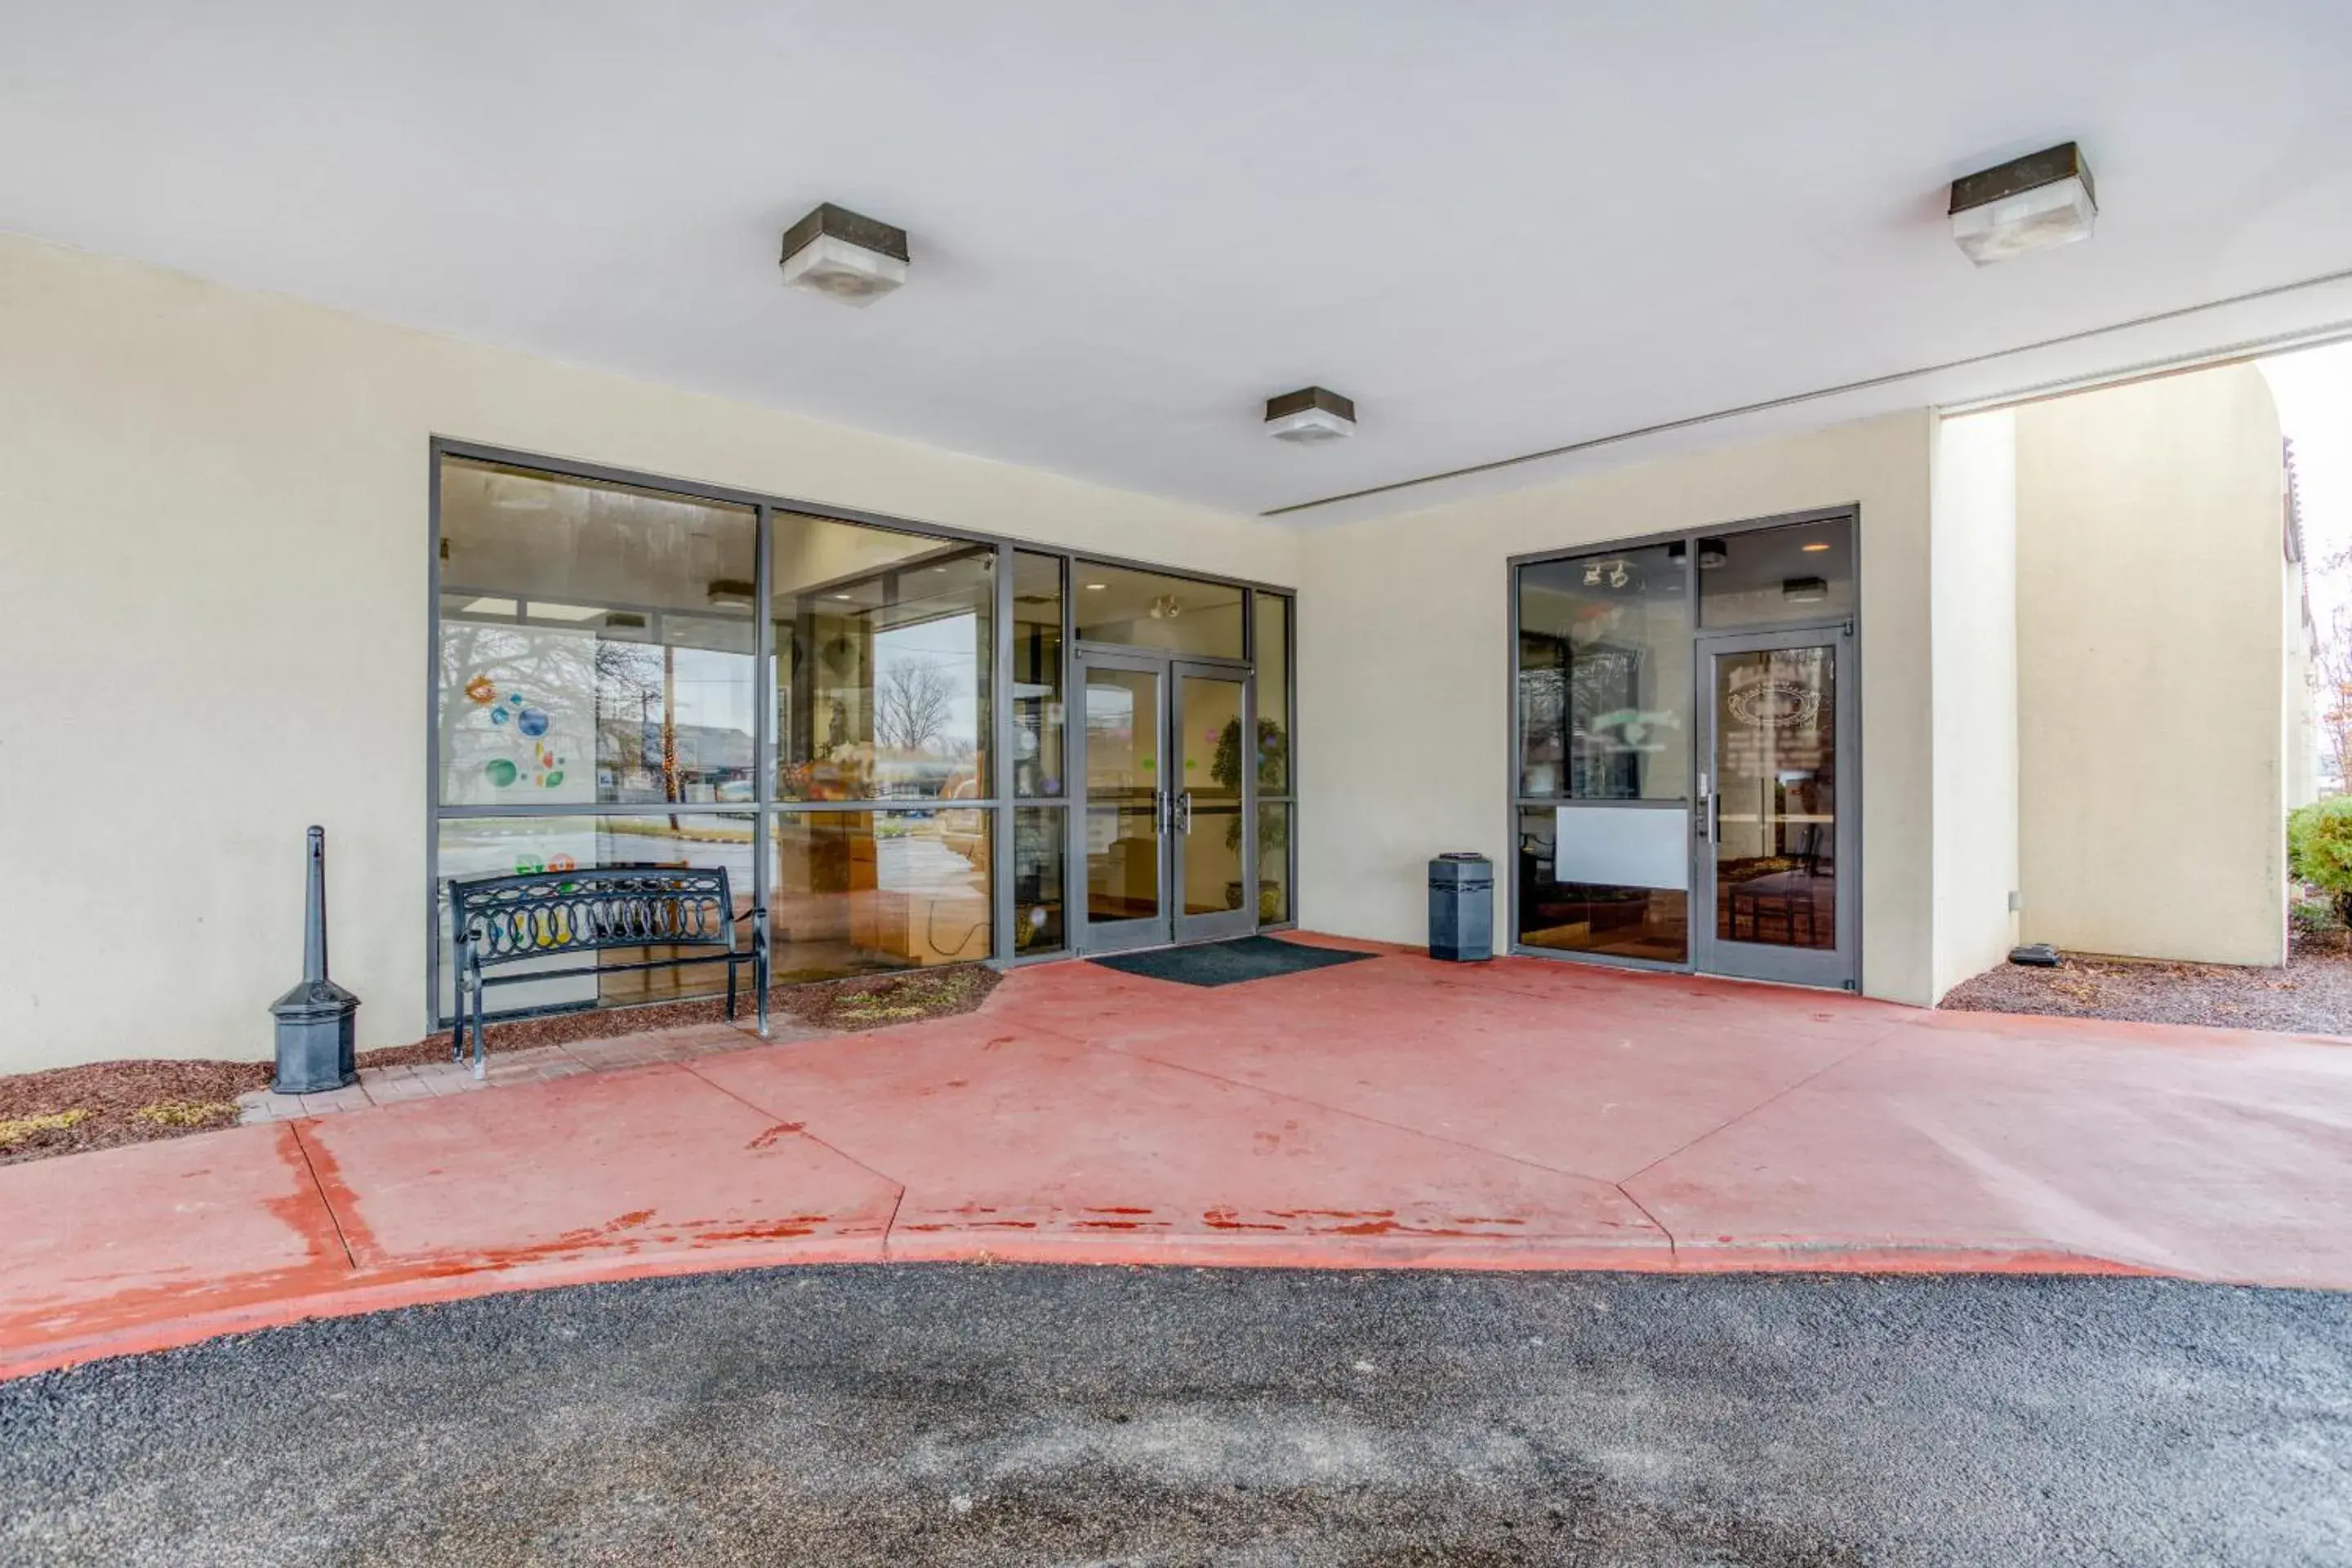
[[[85,1063],[0,1077],[0,1166],[238,1124],[268,1063]]]

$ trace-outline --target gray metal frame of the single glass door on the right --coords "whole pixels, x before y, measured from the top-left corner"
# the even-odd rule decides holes
[[[1740,943],[1717,929],[1717,811],[1722,778],[1717,776],[1717,658],[1764,654],[1776,649],[1830,649],[1835,686],[1837,757],[1832,788],[1835,825],[1835,950],[1783,947],[1776,943]],[[1691,658],[1696,682],[1691,715],[1696,722],[1693,820],[1691,820],[1691,966],[1703,973],[1740,980],[1780,980],[1788,985],[1860,987],[1860,872],[1863,839],[1856,802],[1860,799],[1860,703],[1856,693],[1853,621],[1832,621],[1769,632],[1700,632]]]

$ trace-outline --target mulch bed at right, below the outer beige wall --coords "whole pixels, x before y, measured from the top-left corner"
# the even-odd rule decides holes
[[[1943,1006],[1964,1013],[2352,1034],[2352,957],[2340,936],[2300,933],[2286,969],[2129,964],[2065,954],[2058,969],[1990,969],[1955,985]]]

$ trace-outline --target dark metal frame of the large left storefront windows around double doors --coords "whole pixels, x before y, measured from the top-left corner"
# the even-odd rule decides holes
[[[682,501],[706,501],[713,505],[736,505],[753,512],[753,799],[748,804],[720,804],[720,802],[579,802],[579,804],[550,804],[550,806],[445,806],[440,799],[442,785],[442,757],[440,757],[440,628],[442,628],[442,569],[440,569],[440,536],[442,536],[442,465],[447,461],[470,461],[470,463],[496,463],[501,468],[520,468],[534,475],[546,475],[553,480],[586,480],[593,484],[621,484],[637,491],[652,491],[661,496],[675,496]],[[962,529],[941,522],[927,522],[917,517],[894,517],[884,512],[866,512],[856,508],[826,505],[816,501],[800,501],[793,496],[776,496],[760,489],[743,489],[731,484],[710,484],[701,480],[687,480],[677,475],[649,473],[637,468],[619,468],[612,463],[593,463],[583,458],[567,458],[543,451],[524,451],[517,447],[501,447],[494,442],[477,442],[454,435],[430,435],[426,440],[426,682],[423,682],[423,722],[426,722],[426,1016],[435,1020],[435,1027],[447,1027],[452,1016],[440,1001],[442,980],[442,875],[440,875],[440,825],[454,818],[564,818],[564,816],[750,816],[753,818],[753,898],[757,907],[774,907],[774,825],[783,813],[809,813],[809,811],[927,811],[938,809],[936,802],[910,802],[910,799],[854,799],[854,802],[793,802],[781,799],[776,792],[776,757],[779,757],[779,733],[776,733],[776,623],[774,623],[774,534],[776,517],[809,517],[816,522],[842,522],[861,529],[877,529],[884,534],[908,534],[920,538],[938,538],[953,545],[978,545],[995,550],[995,628],[990,630],[990,677],[988,677],[988,738],[995,752],[988,766],[985,799],[955,802],[957,811],[988,811],[990,813],[990,950],[993,957],[985,959],[997,969],[1011,969],[1018,964],[1040,964],[1054,959],[1068,959],[1075,954],[1073,940],[1073,910],[1075,898],[1070,879],[1082,860],[1073,860],[1073,849],[1082,849],[1077,842],[1084,823],[1080,811],[1070,811],[1068,790],[1061,797],[1014,797],[1014,773],[1011,773],[1011,684],[1007,670],[1011,670],[1011,583],[1014,583],[1014,555],[1040,555],[1061,562],[1061,691],[1063,691],[1063,759],[1068,764],[1070,752],[1070,682],[1077,668],[1077,595],[1073,590],[1077,562],[1094,562],[1101,567],[1115,567],[1127,571],[1148,571],[1155,576],[1167,576],[1188,583],[1211,583],[1218,588],[1242,590],[1242,654],[1240,663],[1251,665],[1251,651],[1256,646],[1256,597],[1272,595],[1287,604],[1287,670],[1284,684],[1289,689],[1289,715],[1291,715],[1291,795],[1282,797],[1291,806],[1291,849],[1289,849],[1289,877],[1291,877],[1291,919],[1261,926],[1263,931],[1289,931],[1296,929],[1296,898],[1298,898],[1298,825],[1296,825],[1296,799],[1298,799],[1298,590],[1284,588],[1279,583],[1261,583],[1254,578],[1237,578],[1216,571],[1183,571],[1167,567],[1162,562],[1131,559],[1120,555],[1105,555],[1101,550],[1075,550],[1068,545],[1054,545],[1035,538],[1018,538],[1011,534],[990,534],[983,529]],[[487,592],[487,590],[485,590]],[[524,597],[524,595],[513,595]],[[520,623],[520,616],[517,616]],[[1202,661],[1218,663],[1218,661]],[[1014,929],[1014,835],[1016,835],[1016,811],[1023,806],[1047,806],[1063,813],[1065,844],[1063,844],[1063,945],[1049,952],[1014,957],[1011,929]],[[1256,846],[1256,820],[1249,823],[1249,844]],[[517,1013],[520,1016],[520,1013]]]

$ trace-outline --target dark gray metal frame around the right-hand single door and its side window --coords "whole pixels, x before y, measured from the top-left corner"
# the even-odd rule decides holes
[[[1835,616],[1790,618],[1790,621],[1773,621],[1773,623],[1766,623],[1766,625],[1748,625],[1748,628],[1717,628],[1715,632],[1710,632],[1710,628],[1703,623],[1703,618],[1698,614],[1700,611],[1700,604],[1698,604],[1698,541],[1700,538],[1738,538],[1740,534],[1764,534],[1764,531],[1771,531],[1771,529],[1802,527],[1806,522],[1844,522],[1846,524],[1849,538],[1851,538],[1851,545],[1853,545],[1853,609],[1835,614]],[[1632,806],[1632,809],[1691,811],[1696,806],[1696,802],[1693,802],[1691,795],[1684,795],[1682,799],[1656,799],[1656,802],[1637,802],[1637,799],[1576,802],[1576,799],[1566,799],[1566,797],[1524,795],[1519,790],[1519,783],[1522,783],[1522,776],[1524,776],[1522,764],[1524,764],[1524,757],[1526,757],[1526,736],[1524,736],[1524,726],[1522,726],[1522,717],[1519,717],[1519,574],[1526,567],[1545,567],[1545,564],[1552,564],[1552,562],[1573,562],[1573,559],[1583,559],[1588,555],[1616,555],[1621,550],[1651,550],[1656,545],[1670,545],[1670,543],[1677,543],[1677,541],[1684,545],[1684,552],[1682,552],[1684,599],[1691,607],[1691,616],[1689,616],[1689,625],[1684,630],[1684,639],[1689,642],[1689,649],[1691,649],[1691,693],[1689,693],[1689,698],[1691,698],[1691,717],[1693,719],[1698,717],[1698,703],[1700,703],[1700,677],[1703,677],[1700,639],[1703,637],[1708,637],[1708,635],[1722,637],[1722,635],[1731,635],[1731,632],[1837,632],[1839,628],[1851,628],[1849,630],[1849,642],[1853,646],[1853,677],[1851,677],[1851,689],[1853,689],[1853,724],[1851,724],[1853,790],[1851,790],[1851,802],[1853,804],[1851,804],[1851,813],[1853,813],[1853,844],[1856,844],[1856,853],[1853,853],[1853,893],[1851,893],[1851,910],[1853,910],[1853,983],[1846,985],[1846,990],[1860,992],[1860,987],[1863,987],[1863,961],[1865,961],[1865,952],[1863,952],[1863,931],[1865,931],[1865,919],[1863,917],[1865,917],[1865,907],[1863,907],[1863,856],[1860,856],[1860,844],[1863,844],[1863,811],[1865,811],[1865,799],[1863,799],[1865,797],[1865,790],[1863,790],[1863,503],[1860,501],[1846,501],[1842,505],[1816,505],[1816,508],[1804,508],[1804,510],[1797,510],[1797,512],[1771,512],[1766,517],[1743,517],[1743,520],[1724,522],[1724,524],[1698,524],[1698,527],[1684,527],[1684,529],[1663,529],[1663,531],[1656,531],[1656,534],[1632,534],[1632,536],[1625,536],[1625,538],[1597,538],[1597,541],[1590,541],[1590,543],[1566,545],[1566,548],[1559,548],[1559,550],[1531,550],[1526,555],[1512,555],[1505,562],[1505,567],[1503,567],[1503,597],[1505,597],[1505,602],[1503,602],[1503,618],[1505,618],[1505,625],[1510,628],[1510,632],[1508,632],[1508,644],[1505,644],[1505,654],[1503,654],[1503,682],[1505,682],[1503,684],[1503,701],[1505,701],[1505,710],[1503,712],[1505,712],[1505,736],[1508,736],[1508,755],[1505,755],[1505,769],[1503,769],[1503,773],[1505,773],[1503,776],[1503,823],[1505,823],[1505,844],[1508,844],[1508,860],[1510,860],[1510,865],[1503,867],[1503,877],[1498,879],[1498,891],[1505,898],[1505,910],[1503,910],[1505,947],[1503,950],[1510,952],[1510,954],[1515,954],[1515,957],[1550,959],[1550,961],[1562,961],[1562,964],[1597,964],[1602,969],[1639,969],[1639,971],[1653,971],[1653,973],[1684,973],[1684,976],[1686,973],[1705,973],[1705,971],[1698,969],[1698,940],[1696,940],[1696,936],[1691,940],[1686,940],[1686,954],[1689,957],[1684,957],[1679,964],[1672,964],[1672,961],[1665,961],[1665,959],[1618,957],[1618,954],[1609,954],[1609,952],[1564,952],[1559,947],[1529,947],[1519,938],[1519,813],[1522,811],[1552,811],[1552,809],[1559,809],[1559,806],[1571,806],[1571,809],[1573,806],[1611,806],[1611,809]],[[1684,743],[1691,748],[1691,773],[1689,773],[1689,780],[1698,778],[1698,750],[1696,750],[1698,748],[1698,731],[1700,731],[1700,726],[1693,722],[1689,726],[1689,731],[1686,731],[1686,738],[1684,738]],[[1684,785],[1684,788],[1689,790],[1689,785]],[[1839,809],[1844,811],[1846,806],[1842,804]],[[1294,830],[1294,842],[1296,842],[1296,830]],[[1696,872],[1696,867],[1693,867],[1693,872]],[[1693,875],[1693,882],[1696,882],[1696,875]],[[1844,900],[1846,893],[1842,891],[1839,898]],[[1696,889],[1691,889],[1691,900],[1696,903]],[[1686,914],[1686,919],[1696,922],[1698,919],[1696,910],[1691,910]],[[1740,976],[1733,976],[1733,978],[1740,978]]]

